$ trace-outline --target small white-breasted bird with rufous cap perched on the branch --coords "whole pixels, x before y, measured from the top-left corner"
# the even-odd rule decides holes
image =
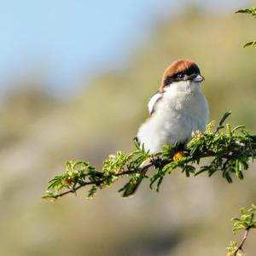
[[[173,61],[166,68],[159,89],[148,102],[148,119],[137,131],[141,148],[156,154],[164,145],[185,145],[193,131],[205,131],[209,108],[201,91],[204,80],[197,64],[188,59]],[[123,196],[133,195],[142,180],[139,178]]]

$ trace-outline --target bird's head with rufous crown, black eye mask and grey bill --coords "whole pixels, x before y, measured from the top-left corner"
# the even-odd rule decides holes
[[[190,85],[199,85],[204,78],[199,67],[193,61],[177,60],[166,68],[160,85],[160,92],[176,84],[177,87],[188,88]]]

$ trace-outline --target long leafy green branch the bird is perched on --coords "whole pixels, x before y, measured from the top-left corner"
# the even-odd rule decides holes
[[[91,197],[98,189],[110,186],[119,177],[129,177],[130,180],[122,189],[119,189],[125,193],[138,180],[148,177],[144,171],[150,167],[154,168],[154,174],[150,177],[150,188],[154,186],[157,191],[166,174],[178,168],[187,177],[199,175],[202,172],[212,176],[220,171],[229,183],[232,182],[234,174],[242,179],[242,171],[247,170],[249,161],[256,158],[256,136],[250,135],[242,125],[231,129],[227,124],[223,131],[224,121],[229,116],[230,112],[224,113],[215,130],[211,122],[207,125],[205,132],[193,132],[193,138],[183,147],[182,154],[178,152],[180,147],[172,148],[168,145],[158,154],[149,154],[135,142],[136,150],[131,154],[118,152],[115,155],[109,155],[101,171],[85,161],[69,161],[66,171],[49,181],[44,198],[57,199],[63,195],[75,194],[77,190],[84,187],[90,187],[88,196]],[[206,166],[200,166],[203,158],[210,160]],[[196,168],[196,165],[199,166]]]

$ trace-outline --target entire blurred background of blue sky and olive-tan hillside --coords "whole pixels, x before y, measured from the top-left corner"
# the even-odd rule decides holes
[[[1,255],[224,255],[230,218],[256,203],[256,165],[243,181],[219,174],[145,180],[124,199],[113,188],[41,200],[67,160],[100,167],[147,117],[164,69],[189,58],[206,78],[211,119],[255,133],[256,23],[252,1],[1,1]],[[255,253],[255,234],[246,241]]]

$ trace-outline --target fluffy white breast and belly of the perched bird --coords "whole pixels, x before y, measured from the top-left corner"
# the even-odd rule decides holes
[[[205,130],[208,113],[200,84],[172,84],[157,102],[153,115],[139,128],[137,138],[150,153],[160,152],[165,144],[187,143],[192,131]]]

